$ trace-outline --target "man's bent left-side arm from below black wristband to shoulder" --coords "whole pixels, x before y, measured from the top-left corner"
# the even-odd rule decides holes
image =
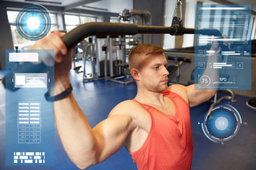
[[[109,117],[91,128],[71,94],[55,102],[55,123],[65,151],[74,164],[85,169],[105,161],[122,147],[135,125],[116,106]],[[120,113],[120,114],[119,114]]]

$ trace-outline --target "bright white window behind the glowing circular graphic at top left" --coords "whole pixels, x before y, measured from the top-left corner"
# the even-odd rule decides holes
[[[7,11],[8,21],[11,26],[11,36],[14,42],[14,47],[18,47],[18,49],[27,49],[29,45],[32,45],[34,41],[32,40],[26,40],[26,38],[23,38],[16,29],[16,18],[18,16],[19,11],[9,10]],[[51,27],[50,31],[52,30],[58,30],[58,24],[57,24],[57,14],[56,13],[50,13],[50,22]]]

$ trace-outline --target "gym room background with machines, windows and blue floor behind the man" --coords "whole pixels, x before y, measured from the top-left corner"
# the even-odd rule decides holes
[[[127,14],[129,10],[137,10],[135,22],[138,24],[151,26],[171,26],[176,0],[74,0],[74,1],[33,1],[33,0],[10,0],[0,1],[0,79],[3,79],[9,72],[6,70],[5,52],[6,50],[18,49],[26,50],[34,42],[26,40],[18,34],[16,30],[16,17],[21,8],[30,4],[41,4],[50,11],[50,30],[70,31],[82,23],[89,22],[120,22],[120,13]],[[246,105],[247,101],[256,96],[256,3],[254,0],[212,0],[212,1],[182,1],[182,20],[186,28],[194,28],[196,4],[250,4],[252,6],[251,26],[252,33],[252,89],[234,90],[236,102],[223,100],[238,110],[242,117],[242,124],[238,135],[224,145],[208,140],[201,128],[201,118],[208,112],[213,101],[207,101],[195,108],[191,108],[191,125],[193,132],[194,152],[191,169],[255,169],[256,167],[256,111]],[[124,9],[127,9],[126,11]],[[129,16],[131,17],[131,16]],[[122,18],[122,17],[121,17]],[[125,17],[124,17],[125,18]],[[131,17],[132,18],[132,17]],[[134,21],[134,18],[131,19]],[[130,21],[129,21],[130,22]],[[123,63],[117,64],[114,60],[119,60],[122,52],[127,52],[129,46],[135,40],[151,42],[166,49],[166,56],[171,56],[174,60],[169,60],[169,64],[180,64],[171,74],[170,84],[188,84],[191,81],[191,74],[194,69],[193,46],[194,35],[140,35],[138,37],[128,37],[128,47],[124,45],[122,50],[118,50],[118,45],[114,45],[122,38],[110,38],[112,43],[110,50],[104,50],[106,37],[87,38],[85,42],[78,45],[78,50],[74,54],[73,69],[70,71],[71,84],[73,84],[73,94],[87,116],[90,124],[97,125],[101,120],[107,118],[107,114],[117,103],[134,98],[136,85],[132,81],[117,81],[117,77],[130,79],[125,66],[126,58],[122,58]],[[97,47],[94,43],[97,41]],[[124,40],[125,41],[125,40]],[[128,43],[128,42],[127,42]],[[93,48],[93,49],[92,49]],[[124,50],[125,49],[125,50]],[[192,51],[192,52],[191,52]],[[254,52],[254,54],[253,54]],[[106,54],[107,53],[107,54]],[[105,57],[107,57],[107,67],[105,67]],[[112,57],[112,58],[111,58]],[[186,57],[190,62],[181,64],[175,59]],[[113,61],[112,61],[113,60]],[[106,69],[108,69],[106,71]],[[179,74],[178,74],[179,73]],[[178,75],[178,76],[177,76]],[[128,83],[127,83],[128,82]],[[226,91],[219,91],[218,98],[230,96]],[[58,133],[55,133],[55,164],[54,166],[5,166],[6,152],[6,110],[5,110],[5,89],[0,85],[0,169],[77,169],[70,162],[67,154],[60,143]],[[99,107],[100,106],[100,107]],[[110,159],[90,167],[89,169],[137,169],[136,164],[128,152],[122,147],[119,152]]]

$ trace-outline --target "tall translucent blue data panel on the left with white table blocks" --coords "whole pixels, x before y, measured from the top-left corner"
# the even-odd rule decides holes
[[[6,166],[54,165],[53,106],[44,97],[54,86],[49,56],[53,50],[6,50]]]

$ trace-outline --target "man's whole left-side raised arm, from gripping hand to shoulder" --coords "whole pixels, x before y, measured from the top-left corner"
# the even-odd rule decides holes
[[[69,71],[73,52],[66,49],[60,39],[61,35],[59,32],[50,33],[30,47],[55,50],[55,86],[50,89],[51,96],[60,94],[70,85]],[[117,152],[134,129],[132,118],[125,114],[122,106],[116,106],[106,120],[92,129],[72,93],[55,101],[55,124],[60,140],[72,162],[80,169],[102,162]]]

